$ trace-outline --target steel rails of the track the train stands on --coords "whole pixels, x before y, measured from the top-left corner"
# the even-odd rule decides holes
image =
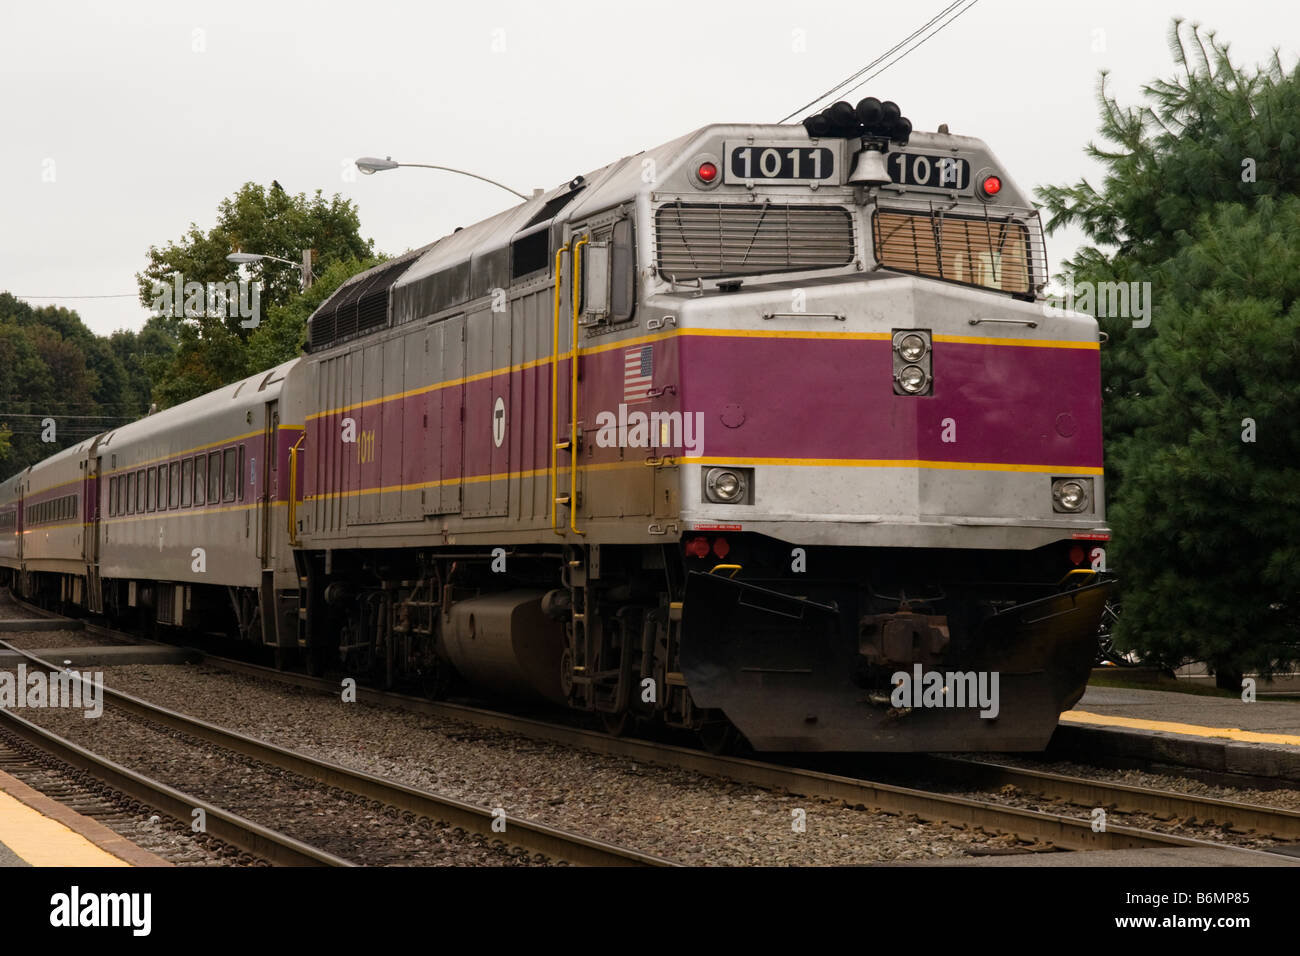
[[[204,659],[213,666],[235,674],[313,689],[330,696],[335,696],[338,692],[337,682],[326,678],[281,671],[213,654],[205,654]],[[863,779],[859,775],[831,774],[767,761],[714,756],[671,744],[633,737],[615,737],[597,731],[506,711],[450,701],[433,701],[367,687],[358,687],[358,701],[459,719],[477,727],[519,734],[595,753],[627,757],[645,763],[710,777],[722,777],[737,783],[746,783],[767,790],[785,791],[807,797],[840,800],[852,806],[870,808],[887,813],[911,814],[920,819],[961,823],[989,831],[1013,834],[1020,840],[1045,848],[1086,851],[1196,847],[1222,849],[1227,853],[1239,855],[1258,855],[1262,852],[1143,827],[1108,823],[1105,829],[1095,829],[1091,814],[1076,817],[1062,813],[1048,813],[976,800],[956,793],[881,783]],[[191,719],[183,715],[177,717],[181,717],[183,721]],[[265,747],[260,741],[254,743]],[[320,762],[306,757],[302,757],[302,760]],[[342,767],[338,769],[343,770]],[[1127,787],[1102,780],[1070,778],[1062,774],[1048,774],[1035,770],[1019,770],[984,761],[928,758],[924,769],[927,773],[942,779],[952,780],[966,775],[966,783],[970,783],[971,779],[978,779],[984,786],[1002,787],[1010,784],[1026,792],[1040,793],[1049,800],[1060,800],[1082,808],[1101,806],[1108,808],[1108,812],[1113,809],[1127,813],[1143,813],[1158,819],[1213,822],[1235,830],[1253,830],[1257,834],[1269,835],[1278,840],[1294,840],[1300,836],[1300,814],[1290,810],[1169,791],[1147,791],[1139,787]],[[400,784],[385,786],[400,787]],[[402,787],[402,790],[410,788]],[[1243,862],[1248,862],[1248,860],[1243,857]]]

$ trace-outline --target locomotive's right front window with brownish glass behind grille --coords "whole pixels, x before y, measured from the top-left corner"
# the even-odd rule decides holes
[[[880,208],[872,217],[876,260],[887,269],[1031,295],[1046,277],[1037,213]]]

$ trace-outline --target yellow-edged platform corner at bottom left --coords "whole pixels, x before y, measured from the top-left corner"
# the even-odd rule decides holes
[[[0,771],[0,866],[170,866]]]

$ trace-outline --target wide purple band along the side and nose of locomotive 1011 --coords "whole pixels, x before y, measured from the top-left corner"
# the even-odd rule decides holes
[[[893,356],[885,341],[681,336],[654,349],[654,388],[675,390],[633,408],[703,412],[701,454],[708,458],[1101,467],[1096,350],[939,342],[933,394],[914,398],[893,394]],[[584,355],[580,375],[580,412],[590,438],[597,414],[616,414],[624,402],[624,349]],[[559,433],[566,436],[567,360],[559,363]],[[521,446],[515,436],[498,449],[491,408],[506,393],[511,427],[529,421],[525,399],[542,414]],[[728,406],[728,421],[742,412],[740,427],[723,424]],[[320,496],[545,470],[549,407],[550,367],[541,364],[311,419],[307,444],[315,450],[302,470],[303,490]],[[344,418],[356,421],[359,441],[363,433],[376,434],[373,459],[361,462],[354,446],[339,442]],[[952,427],[945,425],[949,419]],[[956,441],[944,441],[945,432]],[[510,446],[516,453],[507,466]],[[592,451],[585,460],[619,459],[618,449]]]

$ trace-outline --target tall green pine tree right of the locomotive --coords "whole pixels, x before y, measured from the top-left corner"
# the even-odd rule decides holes
[[[1180,27],[1180,72],[1144,105],[1102,75],[1101,185],[1037,195],[1093,243],[1067,278],[1149,282],[1154,303],[1148,328],[1098,316],[1117,643],[1239,687],[1300,657],[1300,70],[1242,69]]]

